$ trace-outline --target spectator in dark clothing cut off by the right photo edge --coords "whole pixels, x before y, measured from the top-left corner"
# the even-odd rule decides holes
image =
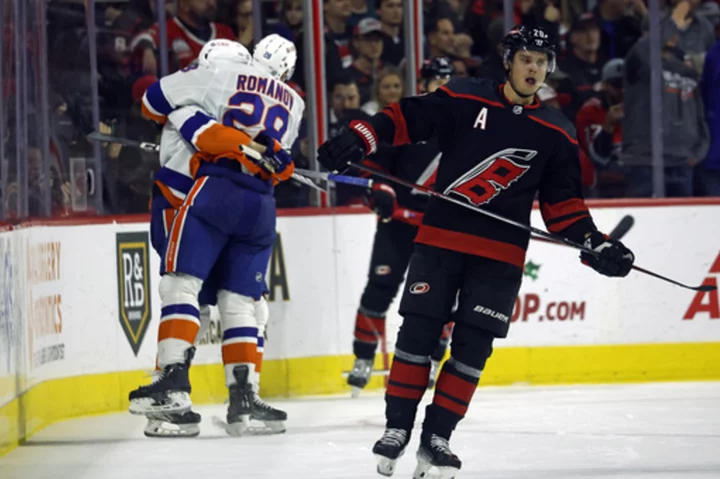
[[[705,161],[696,167],[695,189],[699,196],[720,196],[720,42],[705,58],[700,86],[710,129],[710,149]]]

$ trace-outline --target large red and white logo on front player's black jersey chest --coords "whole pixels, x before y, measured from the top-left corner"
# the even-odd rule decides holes
[[[535,155],[535,150],[519,148],[499,151],[455,180],[444,193],[459,196],[476,206],[489,203],[527,173]]]

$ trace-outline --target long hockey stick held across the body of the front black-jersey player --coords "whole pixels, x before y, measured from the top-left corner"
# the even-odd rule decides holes
[[[597,254],[598,254],[596,251],[593,251],[593,250],[591,250],[590,248],[588,248],[588,247],[586,247],[586,246],[584,246],[584,245],[581,245],[581,244],[579,244],[579,243],[575,243],[574,241],[570,241],[569,239],[564,238],[564,237],[562,237],[562,236],[560,236],[560,235],[557,235],[557,234],[554,234],[554,233],[548,233],[547,231],[543,231],[543,230],[538,229],[538,228],[535,228],[535,227],[533,227],[533,226],[526,225],[526,224],[523,224],[523,223],[520,223],[520,222],[511,220],[511,219],[509,219],[509,218],[505,218],[504,216],[498,215],[498,214],[493,213],[493,212],[491,212],[491,211],[483,210],[483,209],[481,209],[481,208],[478,208],[477,206],[471,205],[470,203],[466,203],[466,202],[461,201],[461,200],[458,200],[458,199],[456,199],[456,198],[452,198],[452,197],[447,196],[447,195],[444,195],[444,194],[442,194],[442,193],[438,193],[437,191],[435,191],[435,190],[433,190],[433,189],[431,189],[431,188],[427,188],[427,187],[422,186],[422,185],[417,185],[417,184],[412,183],[412,182],[410,182],[410,181],[405,181],[405,180],[403,180],[403,179],[401,179],[401,178],[398,178],[398,177],[396,177],[396,176],[390,175],[390,174],[388,174],[388,173],[384,173],[384,172],[382,172],[382,171],[377,171],[377,170],[374,170],[374,169],[372,169],[372,168],[368,168],[367,166],[364,166],[364,165],[359,164],[359,163],[350,163],[349,165],[350,165],[350,166],[353,166],[353,167],[355,167],[355,168],[357,168],[357,169],[359,169],[359,170],[366,171],[366,172],[370,173],[371,175],[376,175],[376,176],[379,176],[380,178],[385,178],[386,180],[392,181],[393,183],[397,183],[397,184],[399,184],[399,185],[403,185],[403,186],[406,186],[406,187],[408,187],[408,188],[418,189],[418,190],[420,190],[420,191],[422,191],[422,192],[424,192],[424,193],[427,193],[427,194],[430,195],[430,196],[434,196],[435,198],[439,198],[439,199],[448,201],[448,202],[450,202],[450,203],[454,203],[454,204],[456,204],[456,205],[462,206],[463,208],[467,208],[467,209],[469,209],[469,210],[472,210],[472,211],[475,211],[475,212],[477,212],[477,213],[483,214],[483,215],[485,215],[485,216],[489,216],[490,218],[494,218],[494,219],[496,219],[496,220],[498,220],[498,221],[502,221],[503,223],[507,223],[507,224],[509,224],[509,225],[515,226],[515,227],[517,227],[517,228],[520,228],[520,229],[522,229],[522,230],[525,230],[525,231],[527,231],[527,232],[529,232],[529,233],[532,233],[532,234],[534,234],[534,235],[540,236],[540,237],[542,237],[542,238],[545,238],[545,239],[554,241],[554,242],[556,242],[556,243],[564,244],[564,245],[566,245],[566,246],[570,246],[571,248],[575,248],[575,249],[580,250],[580,251],[582,251],[582,252],[584,252],[584,253],[592,254],[593,256],[597,256]],[[691,289],[691,290],[693,290],[693,291],[715,291],[715,290],[717,289],[717,287],[715,287],[715,286],[705,285],[705,284],[700,285],[700,286],[690,286],[690,285],[681,283],[681,282],[679,282],[679,281],[675,281],[674,279],[670,279],[670,278],[668,278],[668,277],[666,277],[666,276],[662,276],[662,275],[657,274],[657,273],[654,273],[654,272],[652,272],[652,271],[648,271],[648,270],[646,270],[646,269],[644,269],[644,268],[641,268],[641,267],[635,266],[635,265],[633,265],[632,268],[633,268],[635,271],[639,271],[640,273],[645,273],[645,274],[647,274],[647,275],[649,275],[649,276],[652,276],[652,277],[654,277],[654,278],[661,279],[661,280],[663,280],[663,281],[667,281],[668,283],[672,283],[672,284],[674,284],[674,285],[676,285],[676,286],[680,286],[681,288]]]

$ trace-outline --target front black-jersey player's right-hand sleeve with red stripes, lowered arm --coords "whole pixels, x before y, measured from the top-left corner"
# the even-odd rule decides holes
[[[540,212],[548,231],[580,243],[597,228],[582,195],[575,129],[569,123],[551,128],[558,134],[548,135],[555,143],[555,154],[543,173]]]

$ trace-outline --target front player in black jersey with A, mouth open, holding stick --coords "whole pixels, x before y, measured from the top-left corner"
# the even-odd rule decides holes
[[[318,160],[329,170],[344,170],[380,143],[417,143],[436,135],[442,152],[436,191],[525,224],[539,193],[551,232],[593,249],[595,255],[581,258],[599,273],[626,276],[632,252],[597,230],[582,198],[573,126],[535,96],[555,67],[547,33],[517,26],[503,46],[506,83],[458,78],[435,93],[403,98],[323,144]],[[458,294],[452,356],[425,412],[415,477],[425,477],[431,466],[444,478],[460,469],[448,440],[465,416],[493,340],[508,333],[529,239],[524,230],[454,203],[435,197],[428,202],[400,305],[386,430],[373,447],[381,474],[394,472],[408,445],[429,356]]]

